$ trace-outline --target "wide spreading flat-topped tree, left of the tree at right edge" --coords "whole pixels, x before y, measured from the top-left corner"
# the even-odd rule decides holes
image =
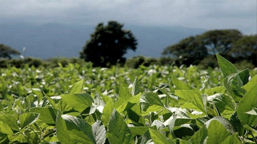
[[[229,55],[233,42],[243,37],[238,30],[209,30],[200,35],[187,37],[177,44],[173,44],[162,52],[164,55],[170,54],[175,58],[180,58],[182,64],[198,64],[203,58],[218,53],[230,60]]]

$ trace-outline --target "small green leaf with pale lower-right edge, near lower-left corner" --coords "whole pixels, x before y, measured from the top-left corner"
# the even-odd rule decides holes
[[[20,128],[23,129],[28,125],[31,125],[39,118],[38,113],[23,113],[20,115]]]

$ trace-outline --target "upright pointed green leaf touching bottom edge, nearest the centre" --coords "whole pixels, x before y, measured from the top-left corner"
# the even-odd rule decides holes
[[[107,137],[110,143],[115,144],[131,144],[134,141],[132,133],[123,117],[115,109],[109,121]]]

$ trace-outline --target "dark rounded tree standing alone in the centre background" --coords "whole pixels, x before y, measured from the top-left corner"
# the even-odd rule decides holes
[[[125,62],[122,56],[128,49],[136,50],[137,40],[130,30],[123,30],[123,26],[116,21],[109,21],[106,26],[99,23],[80,52],[80,58],[101,67],[114,65],[118,60]]]

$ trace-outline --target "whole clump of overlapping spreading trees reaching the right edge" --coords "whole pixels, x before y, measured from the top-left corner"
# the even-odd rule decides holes
[[[166,47],[163,55],[171,55],[182,64],[198,64],[204,58],[218,53],[232,62],[247,59],[256,63],[256,35],[243,35],[238,30],[209,30],[200,35],[184,38]],[[253,59],[255,59],[253,61]]]

